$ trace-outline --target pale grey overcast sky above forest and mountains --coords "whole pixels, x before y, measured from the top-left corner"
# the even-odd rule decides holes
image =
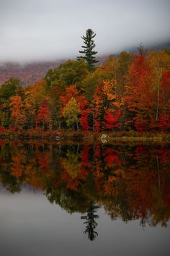
[[[0,61],[75,58],[91,28],[99,56],[170,40],[170,0],[0,0]]]

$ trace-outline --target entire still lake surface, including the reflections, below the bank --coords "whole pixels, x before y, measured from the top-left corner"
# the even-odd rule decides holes
[[[168,256],[170,147],[0,140],[1,256]]]

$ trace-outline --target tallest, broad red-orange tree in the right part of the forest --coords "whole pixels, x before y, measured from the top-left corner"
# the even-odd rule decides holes
[[[153,127],[155,91],[152,69],[144,56],[135,56],[128,69],[125,103],[128,106],[126,124],[138,131]],[[135,125],[135,127],[133,127]]]

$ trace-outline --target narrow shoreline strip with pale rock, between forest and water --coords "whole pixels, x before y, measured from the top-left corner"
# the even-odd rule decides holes
[[[114,141],[135,141],[135,142],[149,142],[149,141],[158,141],[158,142],[170,142],[170,133],[159,132],[73,132],[73,131],[62,131],[62,132],[40,132],[39,134],[19,132],[13,133],[11,135],[0,135],[1,140],[54,140],[54,141],[63,141],[63,140],[81,140],[81,141],[101,141],[114,142]]]

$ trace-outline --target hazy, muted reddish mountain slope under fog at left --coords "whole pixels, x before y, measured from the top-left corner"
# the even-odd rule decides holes
[[[23,86],[37,82],[45,77],[49,69],[55,69],[64,61],[47,61],[24,64],[17,63],[0,64],[0,85],[9,78],[19,78]]]

